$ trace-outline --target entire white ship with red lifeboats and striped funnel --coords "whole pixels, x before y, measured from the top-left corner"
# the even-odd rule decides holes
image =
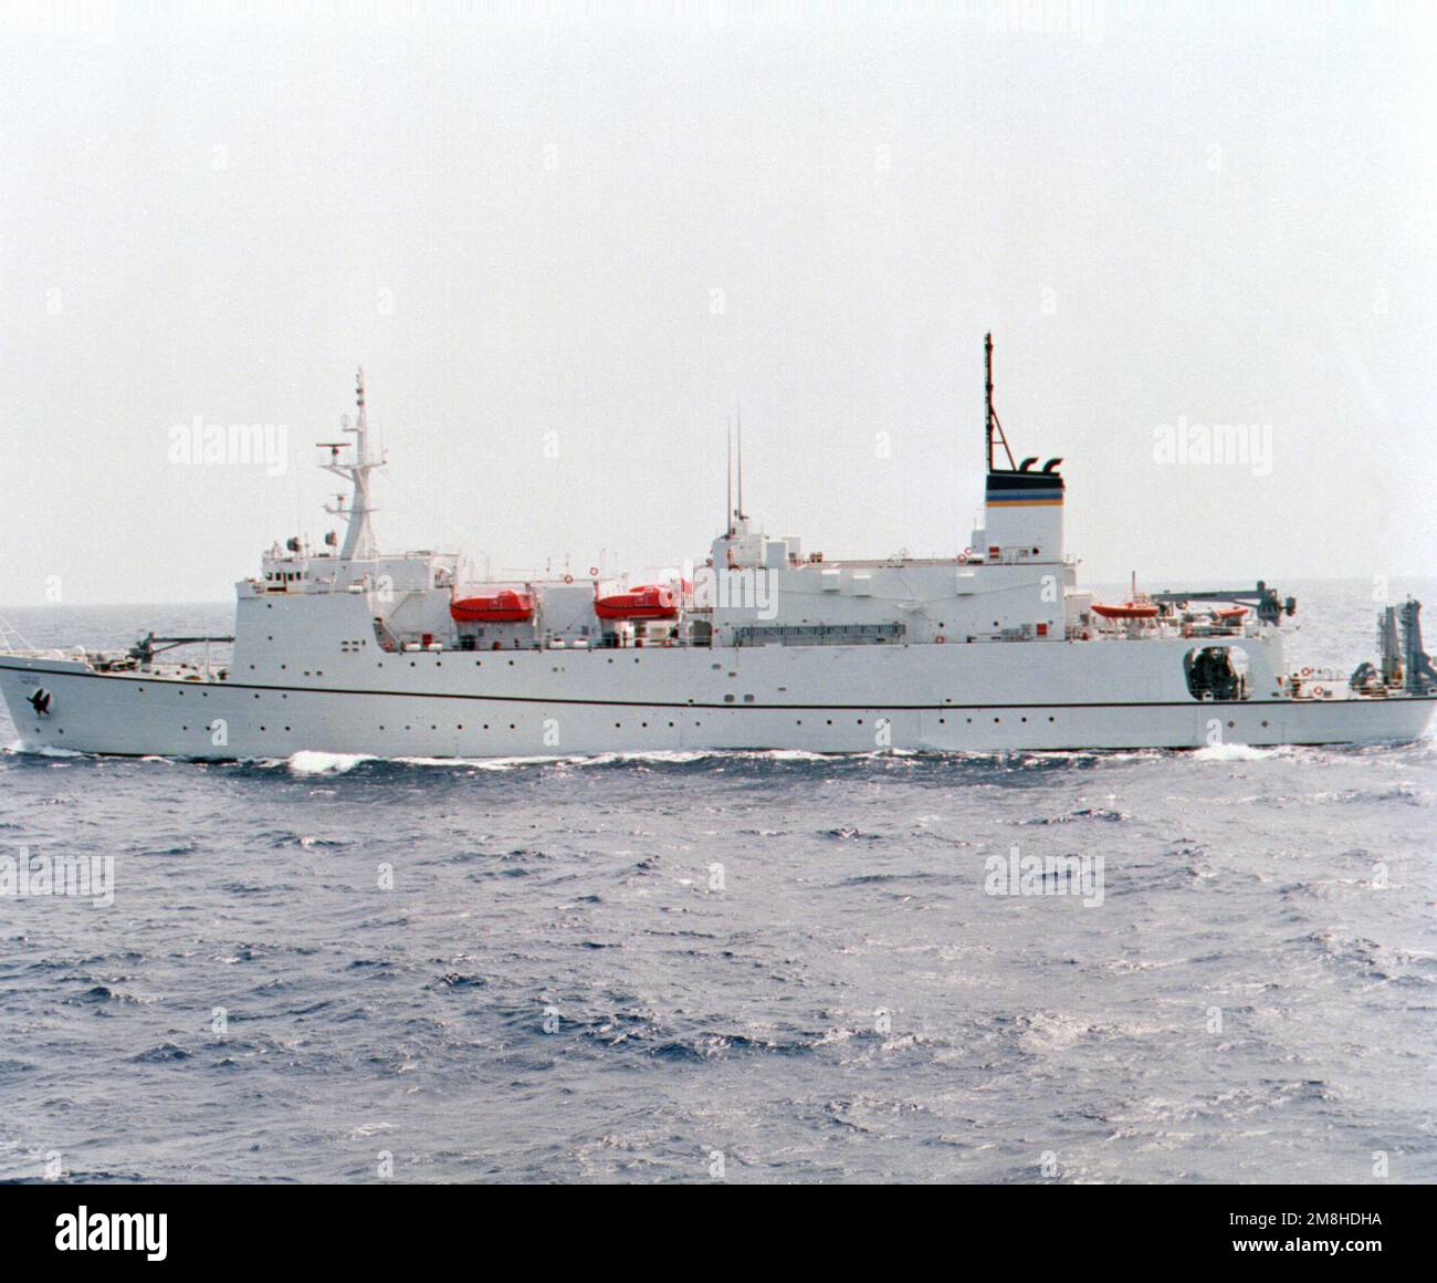
[[[1415,601],[1381,613],[1380,659],[1351,677],[1285,665],[1295,603],[1263,583],[1095,603],[1063,549],[1062,460],[1009,450],[992,339],[986,442],[984,524],[956,557],[805,554],[743,511],[740,467],[727,528],[691,572],[468,583],[456,554],[378,551],[384,459],[361,373],[343,443],[320,447],[352,486],[329,509],[343,539],[272,548],[237,585],[233,639],[7,650],[0,689],[22,749],[201,759],[1200,748],[1431,729]],[[223,667],[175,656],[216,642],[233,642]]]

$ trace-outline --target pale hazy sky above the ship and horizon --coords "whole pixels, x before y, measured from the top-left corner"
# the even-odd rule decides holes
[[[770,534],[951,555],[987,329],[1088,577],[1433,570],[1428,9],[855,7],[10,12],[0,601],[228,595],[358,364],[391,549],[703,555],[741,401]]]

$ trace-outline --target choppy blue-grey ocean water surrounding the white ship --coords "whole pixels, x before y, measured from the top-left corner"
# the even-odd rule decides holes
[[[1371,652],[1296,591],[1299,663]],[[1430,1182],[1434,804],[1431,742],[6,752],[0,856],[114,896],[0,898],[0,1178]],[[1015,846],[1101,902],[990,895]]]

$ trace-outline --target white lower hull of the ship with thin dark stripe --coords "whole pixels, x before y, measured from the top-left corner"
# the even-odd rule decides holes
[[[935,649],[914,647],[930,652],[928,657]],[[1042,650],[1052,656],[1050,647]],[[983,689],[970,695],[961,693],[970,685],[964,680],[933,680],[927,698],[915,698],[924,686],[921,675],[884,683],[881,673],[868,673],[884,688],[885,698],[877,698],[869,689],[874,680],[865,680],[862,670],[897,666],[902,653],[618,652],[555,663],[552,652],[529,652],[487,657],[486,676],[473,660],[471,667],[463,667],[463,653],[450,652],[447,676],[440,672],[443,662],[421,656],[387,685],[369,676],[368,688],[349,685],[362,676],[358,672],[349,673],[348,682],[345,673],[331,675],[323,685],[319,679],[309,685],[194,682],[4,656],[0,690],[24,749],[216,761],[283,758],[300,751],[483,758],[693,749],[842,754],[1374,744],[1424,738],[1437,719],[1437,698],[1430,696],[1219,702],[1122,699],[1111,689],[1089,689],[1091,698],[1045,699],[1040,689],[1012,689],[1013,673],[1006,679],[990,675]],[[605,660],[631,667],[622,680],[606,675],[605,692],[598,695],[586,688]],[[650,665],[642,677],[632,670],[641,660]],[[585,666],[593,669],[585,672]],[[905,672],[911,667],[904,665]],[[760,689],[736,693],[723,690],[726,685]],[[763,690],[764,685],[770,689]],[[938,696],[944,685],[956,693]],[[1075,689],[1071,680],[1065,685]],[[1088,685],[1104,686],[1099,680]],[[49,695],[46,713],[32,708],[37,689]]]

